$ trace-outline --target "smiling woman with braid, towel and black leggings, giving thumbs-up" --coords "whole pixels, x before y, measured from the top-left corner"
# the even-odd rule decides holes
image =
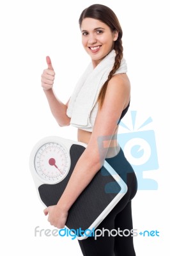
[[[68,210],[106,160],[127,183],[128,191],[98,228],[132,230],[131,200],[136,193],[137,180],[116,140],[118,124],[130,104],[121,26],[114,12],[102,4],[86,8],[81,13],[79,25],[82,45],[91,58],[91,64],[77,83],[72,97],[63,104],[54,94],[55,72],[49,57],[46,59],[48,68],[42,74],[42,87],[58,124],[77,127],[78,141],[88,146],[77,161],[58,204],[47,207],[44,213],[49,214],[51,225],[65,227]],[[103,140],[103,148],[98,148],[98,139]],[[105,234],[96,240],[88,237],[79,241],[79,245],[86,256],[134,256],[132,238]]]

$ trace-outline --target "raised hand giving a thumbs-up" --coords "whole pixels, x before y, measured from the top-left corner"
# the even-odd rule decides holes
[[[48,68],[43,70],[43,74],[42,74],[42,88],[44,90],[49,90],[53,86],[54,78],[55,78],[55,72],[54,72],[54,69],[52,67],[52,64],[51,64],[49,56],[46,57],[46,61],[47,61]]]

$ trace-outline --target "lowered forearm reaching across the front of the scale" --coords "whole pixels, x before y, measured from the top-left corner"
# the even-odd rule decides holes
[[[85,154],[84,154],[85,153]],[[94,161],[93,156],[84,152],[77,161],[70,180],[59,199],[58,206],[68,211],[82,191],[88,186],[95,174],[100,170],[100,161]]]

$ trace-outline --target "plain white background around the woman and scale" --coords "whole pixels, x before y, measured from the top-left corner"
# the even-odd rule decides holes
[[[3,255],[81,255],[70,237],[35,237],[35,227],[51,228],[43,215],[29,171],[29,154],[45,136],[77,140],[74,127],[59,127],[41,88],[49,55],[56,71],[54,89],[66,102],[89,57],[81,45],[79,15],[90,4],[114,10],[123,28],[123,46],[132,84],[130,110],[144,129],[155,131],[158,170],[146,176],[157,191],[138,191],[133,200],[134,228],[158,230],[160,237],[134,237],[137,256],[162,255],[169,233],[169,8],[168,1],[21,1],[0,2],[1,26],[1,250]],[[123,122],[130,124],[130,111]],[[167,145],[167,147],[166,147]],[[167,150],[168,152],[168,150]],[[167,253],[166,253],[167,254]]]

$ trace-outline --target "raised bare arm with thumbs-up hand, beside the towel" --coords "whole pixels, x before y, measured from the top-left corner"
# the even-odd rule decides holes
[[[56,97],[52,86],[54,83],[55,72],[52,67],[50,58],[47,56],[47,65],[48,68],[43,70],[42,74],[42,87],[49,102],[50,111],[56,121],[58,122],[59,126],[66,126],[70,125],[70,117],[66,115],[66,109],[68,108],[68,102],[64,104],[61,102],[58,97]],[[69,101],[69,100],[68,100]]]

